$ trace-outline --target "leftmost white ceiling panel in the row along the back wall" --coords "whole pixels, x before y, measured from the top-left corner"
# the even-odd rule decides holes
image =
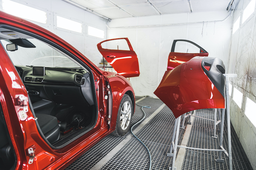
[[[130,14],[121,10],[118,7],[96,9],[93,11],[95,11],[98,14],[103,15],[105,17],[111,18],[111,19],[132,17]]]

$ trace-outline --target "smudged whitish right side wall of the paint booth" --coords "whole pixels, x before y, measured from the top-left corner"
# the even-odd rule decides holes
[[[240,0],[234,11],[234,23],[239,28],[232,35],[228,73],[230,79],[230,116],[244,151],[256,170],[256,24],[254,13],[242,23],[249,0]],[[255,6],[254,6],[255,9]]]

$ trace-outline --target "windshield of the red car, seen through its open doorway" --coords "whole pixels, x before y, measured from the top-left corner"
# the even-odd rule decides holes
[[[7,51],[14,65],[81,68],[74,61],[44,42],[33,38],[28,38],[27,40],[36,47],[24,48],[18,46],[18,50]],[[6,45],[10,44],[10,41],[1,40],[1,43],[6,49]]]

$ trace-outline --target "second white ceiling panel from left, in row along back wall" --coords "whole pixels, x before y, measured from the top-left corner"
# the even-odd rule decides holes
[[[156,9],[152,7],[150,4],[123,6],[122,9],[131,13],[135,17],[159,15]]]

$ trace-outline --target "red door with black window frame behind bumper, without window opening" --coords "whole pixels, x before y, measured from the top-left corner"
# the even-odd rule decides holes
[[[188,42],[191,45],[194,45],[198,48],[198,53],[180,53],[180,52],[174,52],[176,42],[184,41]],[[176,47],[177,48],[177,47]],[[168,57],[168,64],[167,64],[167,70],[172,70],[178,65],[185,63],[192,59],[195,56],[208,56],[208,52],[204,50],[204,48],[200,47],[196,43],[188,40],[174,40],[172,43],[172,49]]]

